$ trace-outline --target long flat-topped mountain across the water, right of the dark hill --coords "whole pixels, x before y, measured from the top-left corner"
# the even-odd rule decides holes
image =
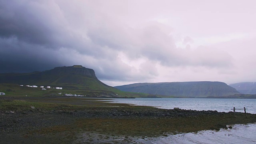
[[[164,96],[207,97],[240,94],[235,88],[224,82],[137,83],[115,86],[115,88],[126,92],[142,92]]]

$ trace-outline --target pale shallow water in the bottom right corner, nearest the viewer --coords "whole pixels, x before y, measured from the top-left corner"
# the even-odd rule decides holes
[[[198,133],[171,135],[152,144],[255,144],[256,124],[236,124],[232,129],[220,131],[205,130]],[[148,142],[147,142],[148,143]]]

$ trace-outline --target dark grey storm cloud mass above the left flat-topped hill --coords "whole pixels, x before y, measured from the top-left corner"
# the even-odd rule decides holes
[[[0,72],[32,72],[81,64],[93,68],[99,78],[132,78],[131,68],[116,61],[118,54],[112,50],[120,48],[119,32],[91,24],[88,34],[86,31],[80,33],[64,18],[59,5],[49,3],[1,2]],[[89,58],[84,59],[84,56]]]

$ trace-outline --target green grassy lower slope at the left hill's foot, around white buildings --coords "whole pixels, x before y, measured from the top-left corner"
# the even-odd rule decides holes
[[[62,90],[56,90],[53,88],[46,88],[47,90],[41,90],[42,88],[31,88],[27,86],[20,86],[19,84],[0,84],[0,92],[5,92],[6,96],[53,96],[59,95],[58,93],[66,94],[80,94],[91,97],[97,96],[118,96],[118,97],[147,97],[149,94],[134,93],[134,92],[123,92],[113,87],[104,87],[100,85],[94,85],[92,82],[91,87],[86,87],[79,84],[65,85],[63,84]],[[60,86],[60,85],[58,85]],[[93,89],[89,89],[93,88]],[[118,94],[118,95],[116,95]],[[60,96],[60,95],[59,95]]]

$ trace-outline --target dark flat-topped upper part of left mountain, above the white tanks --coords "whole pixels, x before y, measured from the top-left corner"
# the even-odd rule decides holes
[[[115,93],[117,91],[116,88],[98,80],[94,70],[78,65],[56,67],[43,72],[4,73],[0,74],[0,83],[30,86],[61,86],[64,90],[81,90],[81,94],[87,91],[86,94],[93,96],[100,94],[116,95]]]

